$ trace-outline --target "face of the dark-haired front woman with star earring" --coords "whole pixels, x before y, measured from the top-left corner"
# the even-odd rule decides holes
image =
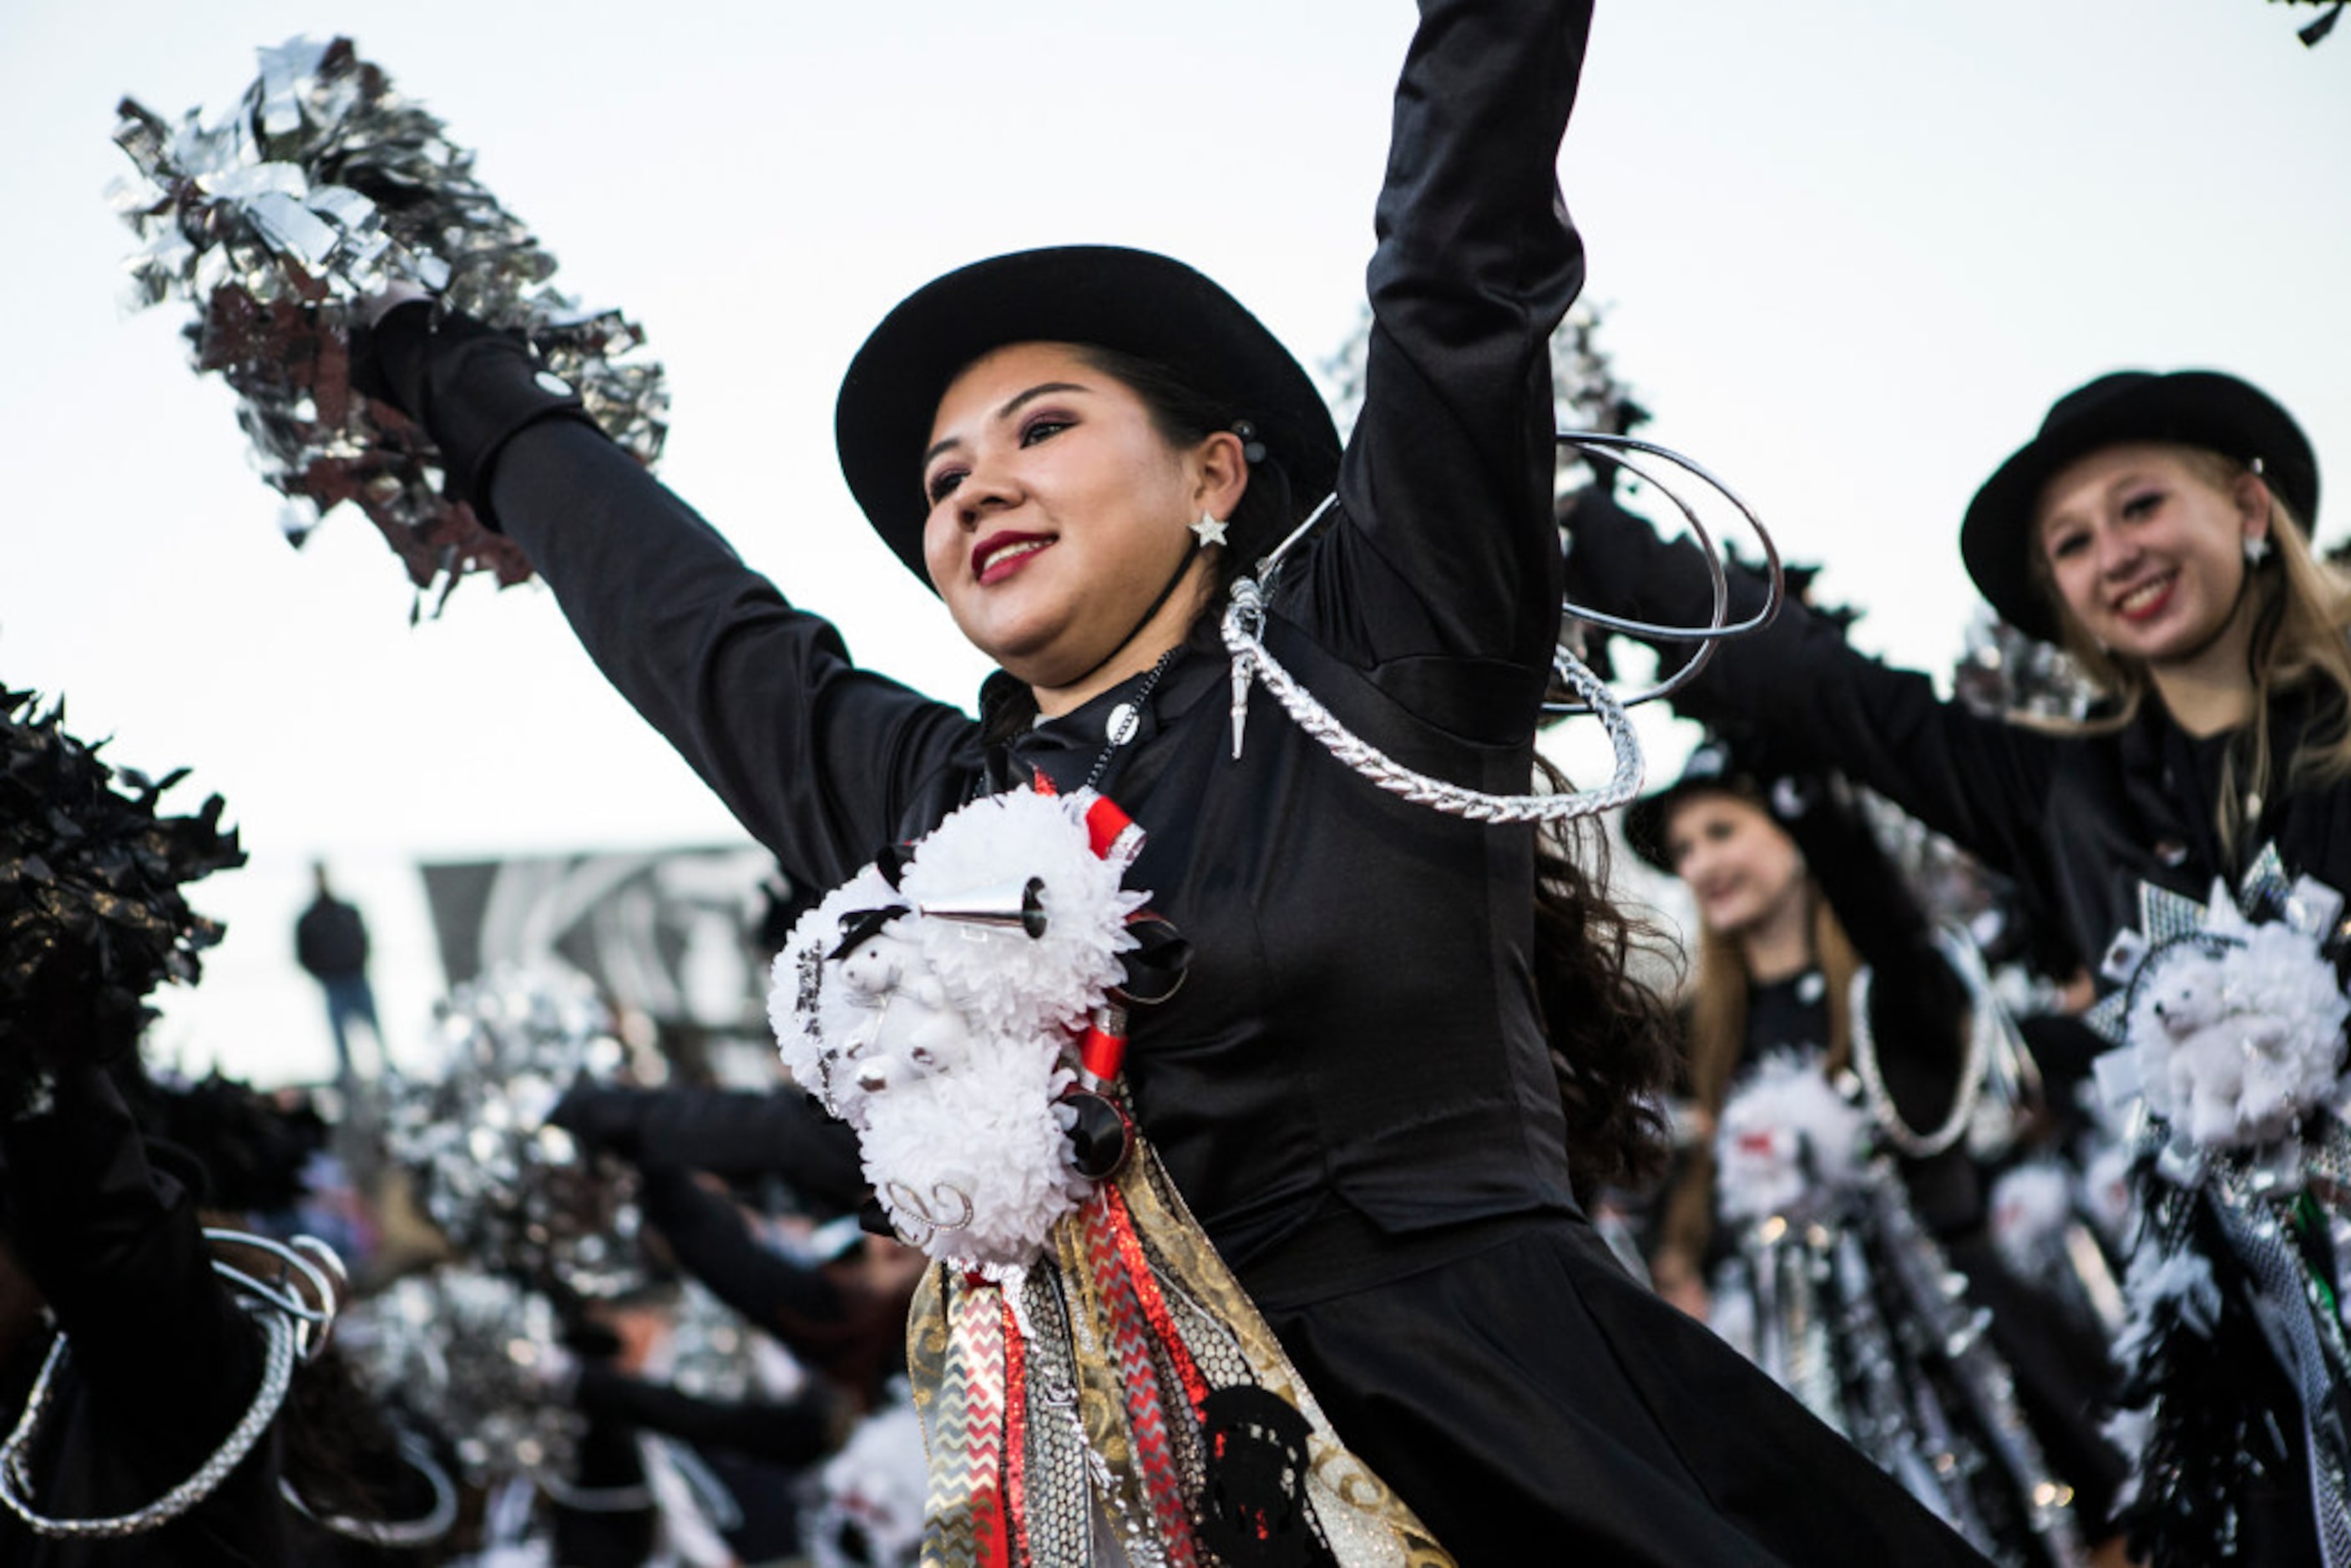
[[[1081,350],[1013,343],[938,400],[924,564],[964,637],[1058,712],[1183,637],[1208,581],[1187,524],[1227,517],[1244,484],[1230,433],[1176,447]],[[1199,585],[1154,611],[1187,559]]]

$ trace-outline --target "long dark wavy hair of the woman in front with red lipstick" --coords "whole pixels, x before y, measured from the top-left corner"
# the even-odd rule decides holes
[[[1225,400],[1199,393],[1164,364],[1110,348],[1074,346],[1077,355],[1114,376],[1152,414],[1173,447],[1197,447],[1248,418]],[[1206,604],[1220,604],[1234,578],[1295,529],[1321,496],[1295,496],[1272,454],[1248,465],[1248,489],[1234,508],[1232,543],[1211,557]],[[1190,642],[1220,654],[1215,616],[1192,623]],[[1027,729],[1037,717],[1027,686],[1011,677],[990,682],[983,724],[990,741]],[[1566,776],[1538,752],[1538,780],[1568,790]],[[1549,823],[1535,835],[1535,1006],[1559,1077],[1568,1121],[1568,1173],[1580,1199],[1603,1187],[1641,1187],[1669,1157],[1665,1103],[1674,1086],[1676,1048],[1672,1006],[1643,978],[1643,966],[1669,969],[1672,938],[1653,922],[1608,898],[1608,839],[1589,820]]]

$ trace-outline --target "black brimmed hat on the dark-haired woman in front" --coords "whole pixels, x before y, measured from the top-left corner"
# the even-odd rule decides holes
[[[1006,343],[1089,343],[1152,360],[1234,407],[1298,496],[1338,477],[1338,425],[1305,367],[1241,301],[1180,261],[1114,244],[992,256],[938,277],[882,317],[835,407],[842,475],[868,522],[924,583],[922,451],[955,376]],[[1262,552],[1274,538],[1232,536]]]

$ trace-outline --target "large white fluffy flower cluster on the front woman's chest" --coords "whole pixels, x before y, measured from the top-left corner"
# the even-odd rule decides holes
[[[1121,978],[1145,893],[1093,853],[1086,799],[1018,792],[955,811],[896,889],[865,867],[792,926],[773,966],[783,1063],[858,1128],[898,1234],[992,1276],[1034,1260],[1089,1192],[1053,1098],[1072,1081],[1072,1034]],[[1037,936],[957,919],[1013,919],[1023,900],[1044,917]],[[863,940],[842,952],[853,929]]]

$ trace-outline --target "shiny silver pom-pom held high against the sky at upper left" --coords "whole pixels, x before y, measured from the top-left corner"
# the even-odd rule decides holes
[[[141,242],[129,303],[195,306],[195,369],[237,390],[261,475],[294,503],[294,543],[355,501],[418,590],[442,578],[444,599],[465,571],[529,576],[515,545],[440,494],[423,430],[350,386],[353,308],[390,282],[522,331],[616,442],[644,463],[661,454],[668,393],[635,353],[644,334],[555,289],[555,256],[475,179],[473,153],[348,38],[261,49],[261,78],[212,122],[188,110],[172,125],[134,99],[118,113],[115,143],[139,167],[113,193]]]

